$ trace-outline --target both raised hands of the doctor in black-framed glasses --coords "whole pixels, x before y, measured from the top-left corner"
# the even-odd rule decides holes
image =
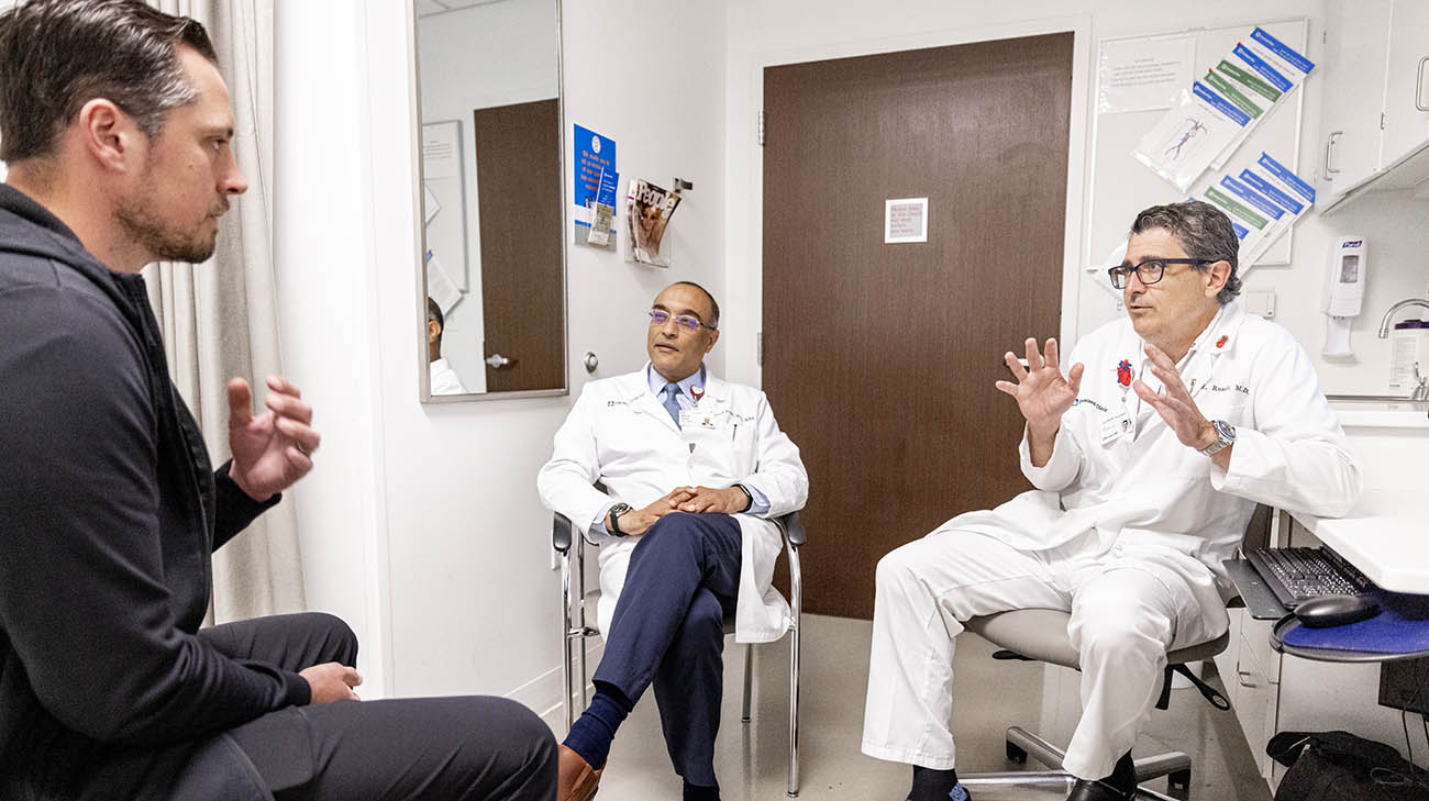
[[[1192,400],[1180,374],[1176,373],[1176,364],[1150,343],[1146,343],[1145,350],[1150,358],[1152,376],[1156,376],[1162,383],[1162,391],[1152,391],[1145,381],[1137,378],[1132,381],[1136,397],[1156,410],[1156,414],[1176,433],[1180,444],[1200,450],[1215,443],[1216,428],[1200,414],[1200,408]],[[997,381],[996,386],[1017,401],[1017,408],[1027,421],[1029,438],[1050,441],[1062,425],[1062,415],[1076,401],[1086,366],[1073,364],[1067,374],[1062,376],[1055,338],[1047,340],[1045,351],[1037,350],[1037,340],[1029,338],[1026,358],[1027,367],[1023,367],[1009,350],[1003,360],[1016,381]]]

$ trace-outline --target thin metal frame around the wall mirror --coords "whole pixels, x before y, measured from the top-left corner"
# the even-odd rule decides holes
[[[413,147],[412,147],[412,174],[416,177],[416,184],[412,187],[412,203],[414,216],[413,220],[417,226],[417,251],[413,254],[416,257],[417,266],[417,297],[413,306],[417,318],[417,388],[419,401],[422,404],[446,404],[446,403],[469,403],[469,401],[486,401],[486,400],[519,400],[519,398],[543,398],[543,397],[560,397],[570,394],[570,251],[566,244],[566,230],[570,227],[570,198],[566,194],[566,170],[570,166],[566,163],[566,69],[564,69],[564,50],[566,50],[566,26],[562,17],[562,0],[546,0],[554,3],[556,6],[556,111],[557,124],[560,130],[556,134],[560,143],[556,147],[557,160],[557,174],[560,176],[560,186],[557,188],[557,201],[560,203],[560,230],[553,231],[560,240],[560,317],[562,317],[562,386],[552,387],[547,390],[507,390],[507,391],[486,391],[486,393],[466,393],[460,396],[433,396],[432,394],[432,370],[427,367],[427,271],[426,261],[423,256],[427,251],[427,227],[426,227],[426,198],[423,197],[422,188],[426,186],[424,166],[422,157],[422,53],[419,51],[417,43],[420,41],[420,33],[417,26],[420,24],[420,17],[417,16],[417,0],[410,0],[407,7],[412,10],[412,33],[410,33],[410,51],[412,51],[412,97],[416,104],[416,114],[413,120]]]

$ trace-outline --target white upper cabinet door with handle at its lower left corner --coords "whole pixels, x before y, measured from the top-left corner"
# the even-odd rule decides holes
[[[1392,0],[1330,3],[1319,188],[1333,200],[1379,170]],[[1323,200],[1322,200],[1323,203]]]

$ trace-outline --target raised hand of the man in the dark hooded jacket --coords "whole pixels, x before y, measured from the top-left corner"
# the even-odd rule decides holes
[[[254,501],[282,493],[313,468],[313,451],[322,437],[309,424],[313,407],[297,387],[269,376],[269,411],[253,417],[253,391],[243,378],[229,381],[229,477]]]

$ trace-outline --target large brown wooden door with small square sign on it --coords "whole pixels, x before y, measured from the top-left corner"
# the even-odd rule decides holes
[[[763,386],[803,451],[805,610],[1026,490],[1002,354],[1057,336],[1072,34],[765,70]],[[927,241],[885,244],[885,200]]]

